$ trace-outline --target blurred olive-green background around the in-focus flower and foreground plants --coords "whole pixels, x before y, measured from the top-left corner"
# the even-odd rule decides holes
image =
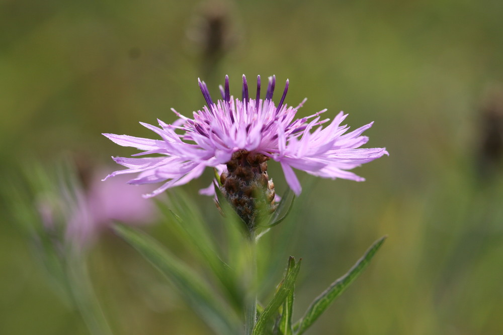
[[[197,77],[216,95],[228,74],[239,95],[242,73],[251,83],[276,74],[278,87],[290,79],[288,104],[308,97],[299,115],[326,107],[330,118],[349,113],[353,129],[375,121],[367,147],[390,153],[355,170],[364,183],[297,173],[312,187],[273,233],[289,234],[275,249],[281,264],[303,258],[295,318],[389,236],[307,333],[503,333],[502,16],[503,2],[491,0],[4,0],[2,184],[21,165],[62,153],[90,166],[135,153],[100,134],[152,137],[138,121],[172,122],[171,107],[190,115],[204,103]],[[218,220],[211,199],[197,194],[210,178],[183,189]],[[2,207],[0,333],[86,334]],[[162,228],[150,231],[184,257]],[[118,238],[105,235],[89,267],[116,333],[210,333]]]

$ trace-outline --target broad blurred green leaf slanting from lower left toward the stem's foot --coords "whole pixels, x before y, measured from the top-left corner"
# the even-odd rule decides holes
[[[115,225],[114,230],[171,280],[189,305],[217,334],[237,333],[240,321],[229,308],[224,308],[211,287],[202,281],[198,274],[147,234],[123,225]]]

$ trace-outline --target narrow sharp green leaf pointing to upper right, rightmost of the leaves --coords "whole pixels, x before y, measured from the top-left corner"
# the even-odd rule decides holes
[[[326,308],[363,272],[370,260],[384,243],[386,236],[380,238],[367,250],[365,255],[343,277],[334,281],[307,308],[304,316],[294,325],[297,335],[302,334],[326,310]]]

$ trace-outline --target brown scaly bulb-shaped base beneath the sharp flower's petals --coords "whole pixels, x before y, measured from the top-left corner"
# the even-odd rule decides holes
[[[274,183],[267,175],[269,157],[263,154],[236,151],[227,162],[227,171],[220,175],[221,190],[237,214],[251,231],[263,214],[272,213]]]

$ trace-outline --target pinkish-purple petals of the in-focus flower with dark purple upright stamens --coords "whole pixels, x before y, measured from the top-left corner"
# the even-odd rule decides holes
[[[320,115],[326,109],[309,117],[295,119],[298,108],[306,99],[296,107],[284,103],[289,85],[287,80],[281,100],[276,105],[272,101],[275,83],[275,77],[269,77],[266,97],[261,99],[258,76],[257,95],[253,99],[248,96],[248,85],[243,75],[242,98],[239,100],[230,95],[229,78],[226,76],[225,87],[220,86],[222,99],[214,103],[206,84],[199,80],[207,105],[195,111],[192,119],[172,109],[179,117],[172,125],[160,120],[160,128],[140,123],[160,136],[160,140],[103,134],[121,146],[143,151],[132,156],[160,155],[113,157],[115,162],[127,169],[115,171],[107,178],[139,173],[129,181],[130,184],[163,181],[164,184],[152,193],[144,195],[151,197],[199,177],[207,167],[225,173],[229,168],[228,163],[236,159],[236,154],[245,153],[246,158],[248,154],[250,157],[262,155],[279,162],[288,185],[298,195],[301,186],[293,168],[323,178],[363,181],[364,178],[348,170],[388,155],[384,148],[360,148],[368,141],[368,137],[362,136],[362,133],[372,123],[347,133],[349,127],[341,126],[347,117],[342,111],[324,128],[321,125],[329,119],[321,119]]]

